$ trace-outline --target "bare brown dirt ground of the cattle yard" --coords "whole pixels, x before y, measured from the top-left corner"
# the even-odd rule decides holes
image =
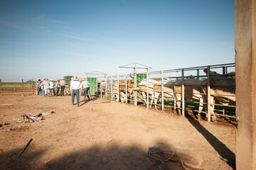
[[[21,115],[49,111],[55,113],[45,120],[17,123]],[[0,113],[0,123],[10,123],[0,127],[0,169],[235,168],[235,125],[228,123],[83,96],[79,108],[70,96],[0,96]],[[174,155],[160,162],[149,151]]]

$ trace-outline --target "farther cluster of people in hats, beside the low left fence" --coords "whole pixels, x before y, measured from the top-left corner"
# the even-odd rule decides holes
[[[58,79],[55,83],[56,86],[56,93],[55,93],[55,87],[53,83],[53,79],[50,79],[50,81],[45,78],[43,81],[41,79],[38,79],[38,95],[41,94],[41,96],[64,96],[64,89],[65,89],[65,78],[62,78],[61,81]]]

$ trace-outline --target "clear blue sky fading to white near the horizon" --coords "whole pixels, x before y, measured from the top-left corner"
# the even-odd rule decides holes
[[[233,0],[0,1],[0,78],[235,62]]]

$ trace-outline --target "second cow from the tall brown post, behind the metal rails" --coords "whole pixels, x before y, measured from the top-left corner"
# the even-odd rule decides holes
[[[184,98],[193,99],[199,101],[198,108],[198,118],[201,117],[201,111],[203,110],[203,101],[205,96],[203,96],[203,91],[201,89],[201,84],[203,81],[198,79],[184,79]],[[176,105],[181,108],[181,85],[182,80],[176,81],[174,84],[174,97],[176,98]],[[181,110],[178,109],[178,115],[181,115]]]

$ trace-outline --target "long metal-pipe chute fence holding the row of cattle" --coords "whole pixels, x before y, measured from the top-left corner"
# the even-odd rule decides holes
[[[235,63],[98,77],[98,93],[112,100],[235,117]],[[228,83],[225,81],[228,80]],[[231,80],[231,81],[230,81]],[[103,86],[104,85],[104,86]],[[217,92],[216,92],[217,91]],[[213,102],[215,101],[215,102]],[[203,110],[204,108],[204,110]]]

